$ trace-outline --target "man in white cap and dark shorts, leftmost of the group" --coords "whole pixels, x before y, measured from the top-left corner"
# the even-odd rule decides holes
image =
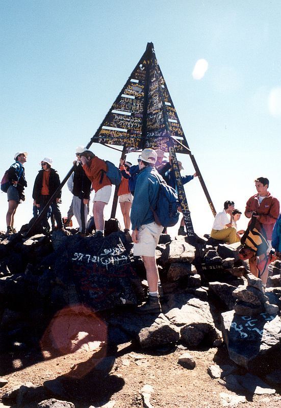
[[[26,151],[17,151],[14,156],[15,163],[8,170],[10,187],[7,191],[9,203],[6,215],[7,236],[16,232],[14,230],[14,216],[19,203],[25,199],[23,191],[24,187],[27,187],[27,182],[25,181],[23,163],[27,161],[27,155]]]

